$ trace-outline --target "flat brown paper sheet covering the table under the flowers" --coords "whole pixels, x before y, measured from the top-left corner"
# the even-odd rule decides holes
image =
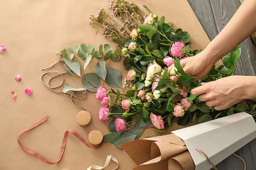
[[[192,47],[205,48],[209,39],[198,22],[186,0],[134,0],[139,6],[148,6],[158,16],[165,15],[166,22],[173,22],[173,28],[182,28],[191,35]],[[135,163],[123,151],[108,143],[98,149],[90,149],[70,135],[61,161],[49,165],[26,153],[17,143],[17,135],[44,116],[49,119],[39,127],[24,133],[20,141],[32,150],[56,161],[64,132],[76,130],[85,139],[91,130],[100,130],[103,135],[109,133],[108,124],[98,119],[100,102],[95,94],[78,101],[92,114],[93,121],[88,127],[80,127],[76,122],[76,113],[81,111],[70,102],[70,97],[55,94],[40,82],[45,68],[58,60],[54,51],[61,51],[66,45],[75,46],[82,42],[99,44],[111,43],[102,36],[102,30],[91,28],[89,14],[96,14],[97,8],[107,8],[107,0],[2,0],[0,10],[0,45],[7,50],[0,54],[0,170],[83,170],[92,164],[103,166],[109,154],[119,161],[119,170],[131,170]],[[96,34],[96,31],[99,32]],[[112,44],[112,43],[111,43]],[[113,45],[113,44],[112,44]],[[76,57],[75,57],[76,58]],[[93,59],[87,72],[92,72],[99,59]],[[80,60],[79,60],[80,61]],[[82,62],[82,61],[80,61]],[[120,62],[107,62],[107,66],[118,68],[125,76],[126,71]],[[61,65],[53,69],[64,71]],[[21,82],[14,76],[20,74]],[[57,78],[61,81],[61,78]],[[64,76],[64,84],[81,87],[81,79]],[[46,81],[46,79],[44,79]],[[51,85],[57,85],[52,83]],[[31,88],[33,94],[24,93]],[[12,99],[10,91],[17,92]],[[76,100],[77,101],[77,100]],[[172,130],[182,128],[176,124]],[[156,135],[153,129],[146,130],[142,137]],[[106,168],[109,170],[116,164]]]

